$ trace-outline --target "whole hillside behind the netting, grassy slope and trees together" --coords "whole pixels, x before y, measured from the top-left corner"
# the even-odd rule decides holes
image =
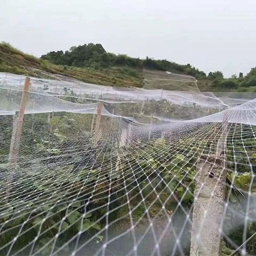
[[[148,72],[155,72],[156,78],[148,84]],[[200,91],[256,91],[256,68],[244,76],[233,75],[225,79],[221,71],[210,72],[206,75],[190,64],[179,65],[167,60],[152,58],[139,59],[127,55],[106,52],[100,44],[85,44],[71,47],[69,51],[52,51],[41,58],[23,53],[6,42],[0,43],[0,72],[14,74],[29,74],[34,77],[52,78],[51,74],[72,77],[84,82],[102,84],[105,86],[157,88],[167,90],[187,90],[187,84],[179,83],[173,86],[176,80],[172,76],[165,79],[162,85],[161,77],[166,72],[179,76],[193,76],[193,87]],[[177,76],[176,76],[177,77]],[[163,80],[163,79],[162,79]],[[184,79],[180,79],[183,81]],[[190,86],[191,81],[189,82]]]

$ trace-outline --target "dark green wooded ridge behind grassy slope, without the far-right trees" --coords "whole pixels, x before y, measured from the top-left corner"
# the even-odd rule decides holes
[[[48,59],[57,65],[67,65],[75,67],[93,67],[93,68],[111,68],[127,67],[129,69],[142,70],[161,70],[174,73],[182,73],[194,76],[196,78],[206,77],[205,73],[195,67],[179,65],[175,62],[164,60],[155,60],[146,57],[146,59],[132,58],[124,54],[113,54],[106,52],[100,44],[85,44],[83,46],[71,47],[65,53],[63,51],[49,52],[41,56],[42,59]],[[136,71],[135,75],[136,75]],[[132,75],[132,72],[131,72]]]

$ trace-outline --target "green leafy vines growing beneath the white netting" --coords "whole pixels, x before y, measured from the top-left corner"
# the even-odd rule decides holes
[[[65,99],[74,100],[67,96]],[[79,100],[77,99],[75,102],[79,102]],[[170,104],[168,106],[168,104],[164,100],[148,101],[144,106],[144,112],[147,115],[158,114],[158,111],[166,109],[165,114],[171,113],[170,116],[175,116],[179,111],[194,116],[198,113],[203,114],[203,109],[198,106],[182,111],[179,106]],[[116,106],[115,110],[120,115],[126,115],[127,111],[130,113],[133,111],[136,116],[139,115],[141,111],[139,105],[135,105],[134,109],[129,109],[129,105],[131,104],[120,104]],[[159,109],[156,109],[156,105],[160,106]],[[187,113],[184,114],[184,119],[187,118]],[[206,110],[204,114],[207,114]],[[12,247],[12,253],[21,250],[20,253],[28,254],[31,247],[22,250],[24,245],[31,243],[35,236],[38,236],[35,248],[40,249],[48,244],[48,247],[39,251],[38,255],[48,255],[56,234],[61,232],[54,247],[60,249],[59,254],[69,255],[75,246],[75,240],[68,246],[65,245],[72,237],[77,236],[82,226],[80,238],[82,243],[94,238],[81,251],[81,254],[94,254],[104,241],[107,211],[110,213],[109,223],[118,220],[114,225],[110,225],[109,240],[112,238],[111,236],[118,236],[130,228],[129,206],[133,209],[133,221],[141,220],[142,227],[148,225],[145,207],[149,208],[148,214],[151,219],[159,215],[160,219],[158,218],[155,223],[159,236],[163,231],[163,229],[159,229],[159,226],[166,224],[166,215],[162,209],[163,203],[166,210],[179,212],[177,210],[178,202],[181,202],[181,206],[189,212],[194,200],[196,161],[200,155],[210,155],[216,151],[215,144],[212,143],[216,136],[214,132],[207,139],[203,140],[200,137],[204,131],[212,129],[210,124],[198,126],[196,130],[190,132],[188,130],[187,136],[176,134],[175,137],[172,137],[171,133],[166,133],[163,138],[159,138],[159,134],[152,134],[150,141],[148,141],[147,135],[145,139],[142,136],[141,139],[132,141],[131,146],[126,145],[120,148],[118,143],[113,143],[113,138],[110,137],[110,134],[114,134],[111,128],[108,131],[103,131],[102,141],[95,145],[94,136],[91,134],[92,117],[90,114],[54,113],[49,121],[48,114],[25,116],[19,155],[20,160],[26,159],[19,163],[19,169],[24,175],[17,175],[13,180],[12,191],[15,193],[9,198],[11,207],[6,207],[4,203],[1,205],[1,207],[5,207],[6,211],[4,218],[0,218],[0,225],[5,223],[2,229],[4,234],[0,238],[0,247],[12,241],[20,230],[20,226],[28,220],[23,226],[22,235]],[[101,118],[102,124],[108,124],[108,127],[111,127],[113,120],[110,117],[102,116]],[[116,121],[119,123],[119,120]],[[12,116],[1,116],[0,122],[3,131],[0,164],[4,166],[8,161],[13,118]],[[231,125],[228,131],[231,131],[234,140],[229,140],[227,144],[227,164],[228,169],[236,168],[237,173],[234,177],[234,173],[230,172],[229,178],[231,180],[234,178],[234,184],[237,187],[248,191],[252,179],[248,159],[252,164],[256,163],[256,155],[253,153],[256,151],[255,140],[250,138],[249,134],[244,135],[243,143],[250,146],[249,156],[247,156],[241,141],[242,127],[236,126],[236,132],[232,134],[234,127]],[[247,128],[256,132],[254,127],[248,126]],[[244,129],[246,130],[246,127]],[[221,130],[217,129],[217,131]],[[169,143],[170,141],[172,143]],[[78,145],[75,147],[75,152],[70,145]],[[6,175],[8,169],[1,165],[0,173]],[[100,179],[98,179],[100,174]],[[62,175],[68,178],[57,178]],[[124,181],[126,189],[129,191],[130,205],[127,204]],[[5,181],[3,180],[3,182]],[[108,208],[109,187],[112,187],[112,190],[111,203]],[[157,194],[152,189],[153,187]],[[251,192],[254,193],[255,189],[256,186],[253,183]],[[53,191],[58,191],[58,193],[53,193]],[[145,198],[145,205],[141,200],[140,191]],[[26,196],[28,194],[30,197]],[[91,195],[95,196],[90,201]],[[156,195],[159,195],[160,199],[157,199]],[[4,196],[0,196],[2,202],[4,202]],[[33,196],[36,196],[37,200],[33,200]],[[48,198],[51,200],[46,202]],[[24,207],[28,205],[28,208],[17,214],[15,207],[20,207],[21,200],[24,200]],[[239,200],[232,196],[229,202],[230,207],[234,207],[238,215],[243,213]],[[90,204],[87,205],[89,201]],[[84,205],[87,205],[88,214],[82,218]],[[185,222],[186,218],[186,215],[182,215],[182,210],[180,212],[181,214],[177,213],[172,217],[177,232],[180,231],[179,223]],[[223,228],[233,243],[239,245],[242,243],[243,224],[238,226],[234,215],[236,214],[233,211],[227,212]],[[184,244],[181,242],[184,252],[189,251],[189,242],[187,241],[190,241],[190,228],[188,225],[182,231],[181,240],[186,241]],[[142,232],[140,233],[138,229],[136,229],[137,239],[142,236]],[[256,231],[252,221],[250,221],[247,231],[248,237]],[[122,249],[124,251],[127,249],[129,252],[128,245],[129,243],[133,245],[132,238],[124,236],[121,241],[123,244],[127,244],[127,248],[124,246]],[[154,241],[152,243],[154,244]],[[169,250],[173,248],[175,238],[167,236],[166,241],[164,240],[162,244],[164,243],[166,243],[166,247],[161,245],[161,253],[163,255],[170,254]],[[254,247],[256,247],[255,239],[248,244],[248,253],[253,254]],[[117,248],[118,246],[115,246],[114,243],[112,252],[116,255],[120,254]],[[229,254],[232,250],[230,244],[223,243],[223,253]],[[7,254],[7,252],[7,250],[3,250],[0,251],[0,254]],[[151,254],[151,248],[143,247],[143,252]]]

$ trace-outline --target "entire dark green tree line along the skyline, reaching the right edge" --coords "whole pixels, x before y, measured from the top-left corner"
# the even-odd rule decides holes
[[[138,72],[143,69],[169,71],[179,74],[194,76],[196,79],[208,80],[212,88],[220,90],[237,90],[240,92],[256,91],[256,67],[244,76],[242,72],[239,76],[232,75],[225,79],[221,71],[205,72],[191,66],[179,65],[178,63],[166,59],[155,60],[150,57],[145,59],[133,58],[125,54],[114,54],[106,52],[101,44],[84,44],[73,46],[70,50],[63,52],[52,51],[41,56],[56,65],[68,67],[89,67],[93,69],[108,69],[113,67],[129,68],[129,74],[138,77]]]

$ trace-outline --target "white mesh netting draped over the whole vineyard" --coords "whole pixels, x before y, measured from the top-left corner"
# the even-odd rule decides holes
[[[255,252],[253,95],[32,78],[15,160],[25,77],[2,77],[1,255]]]

